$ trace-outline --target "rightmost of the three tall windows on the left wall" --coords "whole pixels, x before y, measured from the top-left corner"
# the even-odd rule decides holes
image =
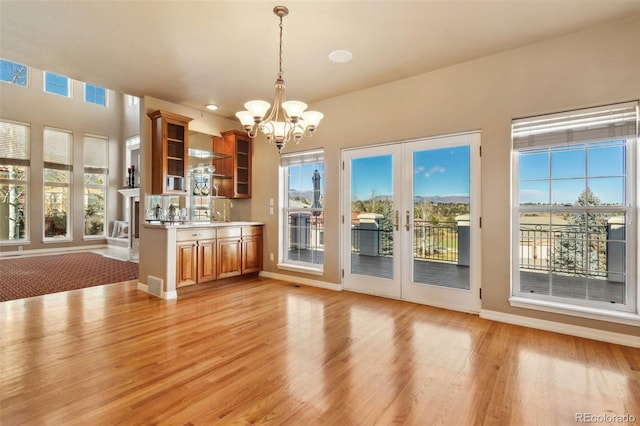
[[[84,235],[104,237],[109,140],[84,136]]]

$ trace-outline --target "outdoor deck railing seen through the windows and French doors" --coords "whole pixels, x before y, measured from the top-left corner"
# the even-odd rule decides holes
[[[292,243],[324,248],[324,223],[314,217],[290,222]],[[466,264],[469,255],[469,226],[464,221],[414,221],[413,255],[415,259]],[[624,273],[624,226],[576,225],[523,226],[520,228],[519,262],[521,270],[608,277]],[[390,225],[353,224],[351,252],[369,256],[393,255],[393,230]]]

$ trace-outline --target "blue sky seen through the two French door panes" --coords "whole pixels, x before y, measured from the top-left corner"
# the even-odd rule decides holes
[[[391,155],[354,159],[351,163],[353,199],[392,194]],[[469,147],[417,151],[413,157],[414,195],[468,196]]]

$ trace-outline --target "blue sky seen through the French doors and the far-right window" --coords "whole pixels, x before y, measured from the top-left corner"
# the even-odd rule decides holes
[[[520,202],[574,204],[588,186],[603,204],[624,204],[625,155],[624,141],[521,151]],[[391,195],[391,161],[391,155],[354,159],[352,199]],[[415,196],[469,195],[468,146],[417,151],[412,167]]]

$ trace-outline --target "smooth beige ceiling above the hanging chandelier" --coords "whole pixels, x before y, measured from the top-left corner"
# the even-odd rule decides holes
[[[279,4],[287,98],[307,103],[640,13],[640,0],[0,0],[0,57],[230,117],[273,100]],[[353,60],[330,62],[336,49]]]

